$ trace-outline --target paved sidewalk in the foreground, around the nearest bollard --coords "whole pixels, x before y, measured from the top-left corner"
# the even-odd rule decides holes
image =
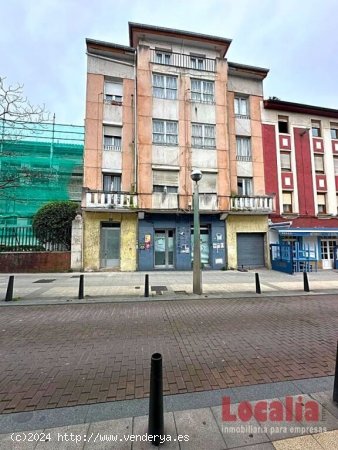
[[[165,396],[166,442],[161,447],[333,450],[338,442],[338,407],[332,402],[332,390],[333,377],[322,377]],[[303,404],[314,400],[320,405],[320,420],[271,422],[251,418],[248,422],[226,422],[222,421],[220,406],[224,396],[230,398],[232,414],[243,401],[254,406],[259,400],[279,399],[288,408],[286,396]],[[0,415],[0,429],[4,432],[0,448],[151,449],[154,447],[149,442],[140,441],[141,436],[146,439],[147,411],[148,399],[141,399]],[[45,439],[49,441],[42,442]]]

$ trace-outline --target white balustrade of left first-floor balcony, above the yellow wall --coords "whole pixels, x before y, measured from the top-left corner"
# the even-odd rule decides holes
[[[137,195],[128,192],[88,191],[85,201],[86,208],[137,208]]]

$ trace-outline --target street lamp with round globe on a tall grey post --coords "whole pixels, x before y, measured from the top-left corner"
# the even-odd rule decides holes
[[[191,179],[194,183],[194,262],[193,262],[193,293],[202,294],[202,274],[201,274],[201,244],[200,244],[200,217],[199,217],[199,193],[198,182],[202,178],[202,172],[194,169],[191,172]]]

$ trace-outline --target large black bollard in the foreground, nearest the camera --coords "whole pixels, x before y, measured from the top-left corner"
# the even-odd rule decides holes
[[[160,445],[160,436],[164,435],[161,353],[151,356],[148,435],[153,436],[151,443],[156,447]]]

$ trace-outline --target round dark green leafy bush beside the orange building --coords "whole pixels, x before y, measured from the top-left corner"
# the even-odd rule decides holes
[[[41,243],[52,248],[71,248],[71,228],[79,205],[71,201],[50,202],[42,206],[33,219],[33,230]]]

